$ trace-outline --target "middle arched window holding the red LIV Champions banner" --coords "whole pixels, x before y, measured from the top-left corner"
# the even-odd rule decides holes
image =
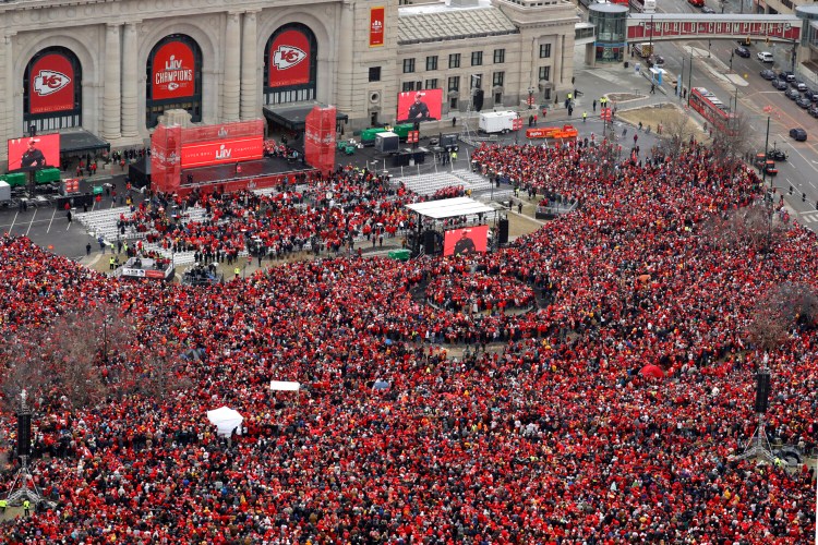
[[[165,110],[187,110],[202,121],[202,49],[184,34],[164,37],[147,58],[145,123],[153,129]]]

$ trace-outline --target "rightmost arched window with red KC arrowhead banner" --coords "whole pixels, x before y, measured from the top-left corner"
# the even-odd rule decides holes
[[[264,104],[315,99],[318,43],[301,23],[281,26],[264,48]]]

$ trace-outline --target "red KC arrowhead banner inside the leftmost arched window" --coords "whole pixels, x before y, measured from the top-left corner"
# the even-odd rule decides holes
[[[28,113],[74,109],[74,68],[63,55],[46,55],[28,73]]]

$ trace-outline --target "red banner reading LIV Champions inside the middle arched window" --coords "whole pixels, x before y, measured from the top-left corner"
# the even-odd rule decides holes
[[[196,70],[193,50],[173,40],[159,48],[154,56],[152,98],[191,97],[196,93]]]

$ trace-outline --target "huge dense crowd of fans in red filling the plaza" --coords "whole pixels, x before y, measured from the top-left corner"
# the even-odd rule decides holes
[[[0,319],[10,335],[107,301],[133,319],[137,350],[133,362],[100,362],[106,376],[115,365],[158,373],[160,360],[142,355],[152,347],[199,355],[176,368],[190,386],[160,398],[80,409],[35,392],[36,448],[48,456],[34,473],[57,507],[0,524],[1,538],[808,543],[811,470],[731,456],[754,431],[762,361],[773,376],[770,434],[806,450],[818,441],[816,324],[795,323],[774,349],[748,335],[771,287],[816,288],[818,261],[805,258],[818,252],[815,234],[777,222],[766,252],[720,244],[712,226],[763,190],[701,146],[645,164],[605,165],[597,154],[478,149],[486,171],[582,206],[468,258],[324,258],[200,289],[116,281],[3,239]],[[164,240],[230,244],[246,228],[270,243],[315,232],[341,241],[366,222],[405,221],[376,185],[316,182],[302,203],[220,197],[205,206],[229,221],[167,226]],[[292,222],[297,205],[313,210],[312,222]],[[468,313],[413,294],[468,286],[474,271],[478,284],[524,282],[546,304]],[[478,349],[452,355],[462,343]],[[666,378],[641,376],[648,363]],[[303,389],[273,392],[269,380]],[[229,443],[205,415],[221,405],[245,419]]]

